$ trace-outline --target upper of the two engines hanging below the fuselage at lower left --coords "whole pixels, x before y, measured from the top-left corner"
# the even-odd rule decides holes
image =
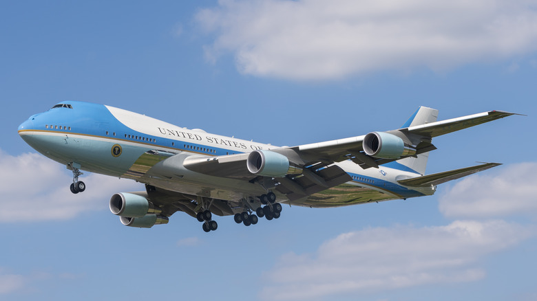
[[[110,211],[119,216],[144,217],[146,214],[162,212],[145,197],[138,194],[119,192],[110,198]]]

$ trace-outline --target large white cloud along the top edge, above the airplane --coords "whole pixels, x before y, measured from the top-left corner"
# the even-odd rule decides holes
[[[213,61],[298,80],[378,70],[447,69],[537,50],[535,1],[219,1],[196,21]]]

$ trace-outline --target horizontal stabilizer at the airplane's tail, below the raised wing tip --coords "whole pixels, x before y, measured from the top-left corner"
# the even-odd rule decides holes
[[[404,186],[414,186],[414,187],[439,185],[441,183],[452,181],[454,179],[459,179],[461,177],[466,177],[467,175],[472,175],[476,172],[487,170],[489,168],[493,168],[499,165],[501,164],[500,163],[485,163],[485,164],[471,166],[467,168],[460,168],[456,170],[439,172],[439,173],[435,173],[432,175],[425,175],[425,176],[415,177],[411,179],[399,180],[397,182],[399,182],[401,185],[404,185]]]

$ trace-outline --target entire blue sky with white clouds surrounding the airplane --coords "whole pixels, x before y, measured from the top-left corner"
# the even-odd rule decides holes
[[[534,1],[13,1],[0,5],[0,299],[535,300]],[[432,197],[284,207],[255,226],[108,210],[129,180],[64,166],[17,134],[83,100],[275,145],[523,113],[434,140],[428,172],[504,165]]]

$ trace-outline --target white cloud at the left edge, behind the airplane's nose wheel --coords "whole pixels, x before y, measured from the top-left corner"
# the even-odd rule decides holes
[[[87,189],[72,194],[72,173],[36,153],[18,156],[0,150],[0,223],[72,219],[108,208],[115,192],[143,190],[140,183],[86,172]]]

